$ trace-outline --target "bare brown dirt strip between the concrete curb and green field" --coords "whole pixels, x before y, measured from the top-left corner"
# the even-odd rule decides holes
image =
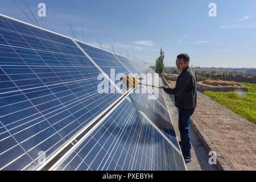
[[[198,93],[193,118],[234,170],[256,170],[256,125]]]

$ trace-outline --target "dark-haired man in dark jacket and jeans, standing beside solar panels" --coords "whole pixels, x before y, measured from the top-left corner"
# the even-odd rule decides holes
[[[176,67],[181,71],[174,89],[164,86],[164,91],[175,96],[175,106],[179,113],[179,142],[183,158],[191,161],[191,139],[189,135],[190,118],[196,107],[196,76],[189,67],[189,56],[185,53],[177,55]]]

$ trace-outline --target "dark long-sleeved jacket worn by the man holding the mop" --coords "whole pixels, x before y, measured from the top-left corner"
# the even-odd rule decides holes
[[[196,107],[196,76],[191,68],[185,68],[177,77],[174,89],[164,89],[166,93],[175,95],[175,106],[181,109]]]

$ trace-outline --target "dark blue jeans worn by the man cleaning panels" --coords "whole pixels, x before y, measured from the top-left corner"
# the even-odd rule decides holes
[[[179,131],[181,139],[181,150],[185,156],[191,156],[191,140],[189,134],[190,118],[195,109],[180,109],[177,108],[179,113]]]

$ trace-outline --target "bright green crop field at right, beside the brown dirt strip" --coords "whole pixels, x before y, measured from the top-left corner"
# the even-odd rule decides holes
[[[241,84],[249,89],[247,93],[206,91],[204,94],[256,125],[256,84]]]

